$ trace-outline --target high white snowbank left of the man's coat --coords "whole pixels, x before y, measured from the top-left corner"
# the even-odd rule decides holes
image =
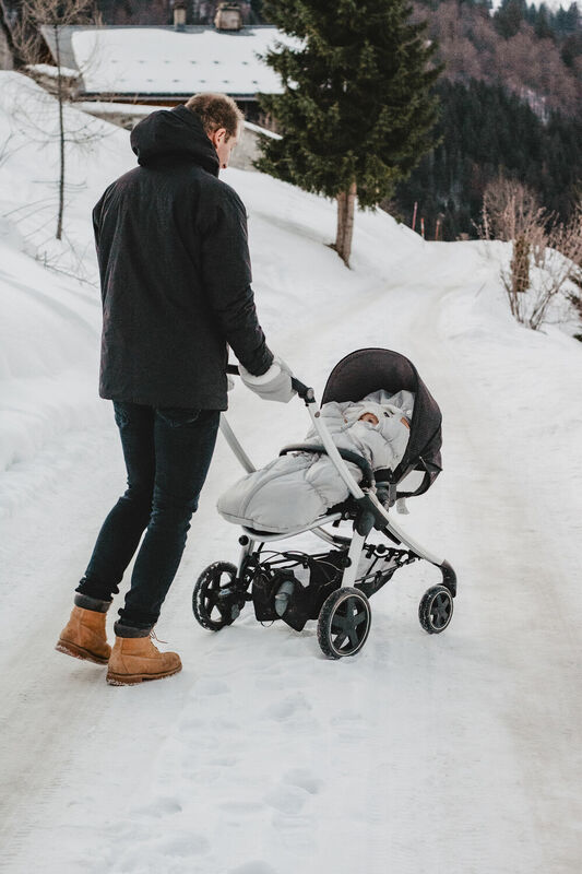
[[[0,511],[17,504],[21,487],[28,494],[25,462],[107,415],[97,398],[100,296],[91,211],[133,156],[117,128],[70,107],[64,119],[68,137],[83,142],[67,144],[59,243],[57,104],[29,79],[0,73],[0,471],[9,471]]]

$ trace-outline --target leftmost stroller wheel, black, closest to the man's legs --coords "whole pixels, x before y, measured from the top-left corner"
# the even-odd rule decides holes
[[[192,610],[203,628],[218,631],[231,625],[245,606],[245,593],[233,584],[237,569],[229,562],[215,562],[202,571],[192,593]]]

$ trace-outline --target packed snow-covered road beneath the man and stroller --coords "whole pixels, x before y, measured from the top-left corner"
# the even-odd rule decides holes
[[[71,433],[37,459],[60,459],[59,473],[4,524],[7,872],[579,870],[580,462],[547,463],[574,435],[533,408],[536,392],[551,392],[555,411],[572,403],[580,350],[559,350],[558,385],[556,349],[554,370],[541,369],[546,347],[528,332],[491,317],[479,342],[466,308],[490,265],[468,245],[453,277],[452,257],[425,246],[412,279],[406,257],[357,297],[340,290],[332,311],[329,296],[312,300],[309,328],[289,294],[276,334],[319,392],[343,354],[384,345],[409,355],[439,400],[446,470],[404,525],[459,574],[440,637],[416,617],[438,581],[427,565],[372,599],[372,631],[353,660],[324,660],[311,625],[266,629],[250,611],[218,635],[197,626],[195,576],[237,553],[236,528],[213,510],[238,475],[221,442],[157,629],[185,671],[107,687],[103,670],[50,646],[121,487],[115,429]],[[522,373],[516,401],[516,368],[528,365],[536,377]],[[260,462],[307,427],[299,401],[273,409],[238,389],[231,406]]]

